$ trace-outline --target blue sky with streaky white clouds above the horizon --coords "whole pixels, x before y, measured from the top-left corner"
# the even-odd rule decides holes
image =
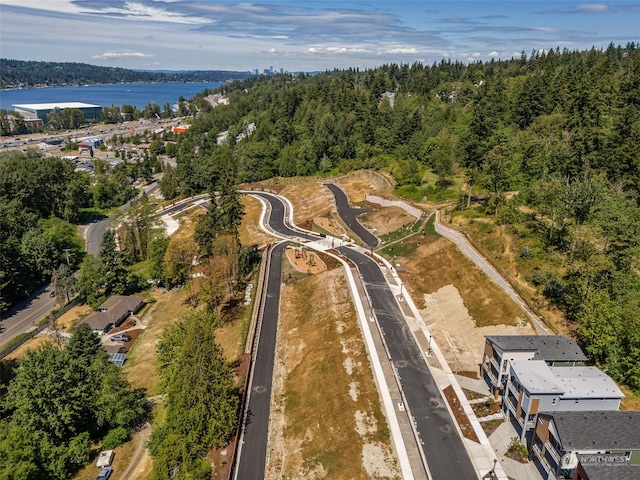
[[[260,71],[486,61],[637,43],[636,1],[0,0],[0,57]]]

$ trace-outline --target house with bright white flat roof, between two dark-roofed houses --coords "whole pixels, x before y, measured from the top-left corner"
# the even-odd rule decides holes
[[[510,360],[502,411],[529,444],[539,412],[616,411],[624,397],[596,367],[550,367],[544,360]]]

